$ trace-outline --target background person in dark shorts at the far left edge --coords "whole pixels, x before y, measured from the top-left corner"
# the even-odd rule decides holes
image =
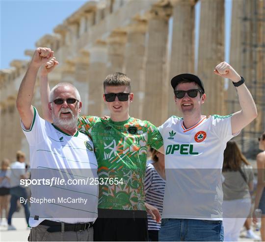
[[[8,215],[8,203],[9,203],[9,194],[10,194],[10,183],[9,179],[6,176],[7,169],[9,167],[9,160],[3,159],[1,162],[0,170],[0,225],[7,225],[7,221],[3,218],[3,211],[5,211],[5,218],[7,219]]]

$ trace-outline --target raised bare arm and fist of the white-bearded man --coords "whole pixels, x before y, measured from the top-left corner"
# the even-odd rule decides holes
[[[53,62],[53,51],[50,48],[37,48],[28,66],[27,73],[20,84],[16,104],[26,129],[30,128],[34,116],[31,102],[38,70],[42,65],[47,68],[52,67]]]

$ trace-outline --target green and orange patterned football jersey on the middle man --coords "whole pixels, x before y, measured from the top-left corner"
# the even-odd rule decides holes
[[[134,118],[114,122],[82,116],[78,129],[94,143],[99,180],[102,181],[98,208],[145,210],[147,148],[159,149],[163,145],[158,128],[149,121]]]

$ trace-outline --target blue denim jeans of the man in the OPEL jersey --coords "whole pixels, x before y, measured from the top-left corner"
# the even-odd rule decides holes
[[[220,220],[163,218],[159,241],[223,241]]]

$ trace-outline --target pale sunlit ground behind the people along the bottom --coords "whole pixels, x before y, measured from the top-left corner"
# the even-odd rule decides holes
[[[17,230],[7,231],[6,226],[0,226],[0,242],[9,242],[9,241],[27,241],[27,237],[29,235],[29,229],[27,229],[26,219],[22,218],[23,216],[23,208],[19,213],[15,213],[16,217],[13,218],[12,223],[17,228]],[[259,232],[255,231],[258,235]],[[250,239],[246,239],[244,237],[245,231],[242,229],[239,241],[254,241]]]

